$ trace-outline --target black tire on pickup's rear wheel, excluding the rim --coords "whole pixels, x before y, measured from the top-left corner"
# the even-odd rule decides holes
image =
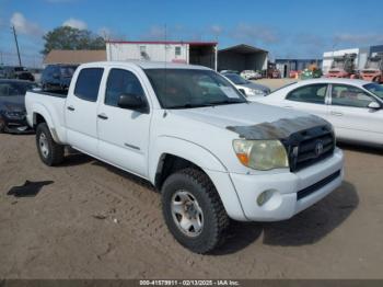
[[[42,135],[46,138],[46,147],[48,149],[48,153],[46,156],[43,154],[40,147],[40,137]],[[49,127],[46,123],[42,123],[36,128],[36,147],[38,151],[38,156],[40,160],[48,167],[58,165],[63,161],[65,147],[62,145],[58,145],[51,137]]]

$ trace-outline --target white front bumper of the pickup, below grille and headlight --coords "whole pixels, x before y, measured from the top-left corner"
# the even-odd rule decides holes
[[[231,173],[231,180],[243,208],[243,220],[278,221],[291,218],[340,186],[344,177],[343,165],[343,152],[336,148],[330,158],[297,173],[265,175]],[[272,196],[259,206],[258,196],[268,190],[272,191]]]

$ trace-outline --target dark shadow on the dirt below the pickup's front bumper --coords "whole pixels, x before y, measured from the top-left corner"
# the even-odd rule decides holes
[[[233,222],[229,228],[229,240],[214,254],[235,253],[263,238],[263,243],[278,246],[314,244],[340,226],[358,207],[359,197],[349,182],[316,205],[278,222],[244,223]]]

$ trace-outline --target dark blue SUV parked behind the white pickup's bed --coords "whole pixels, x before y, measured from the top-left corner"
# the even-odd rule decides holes
[[[77,65],[48,65],[42,74],[42,87],[44,91],[68,90],[70,81],[77,69]]]

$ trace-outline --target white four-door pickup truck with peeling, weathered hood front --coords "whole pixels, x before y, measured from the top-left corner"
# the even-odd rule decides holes
[[[207,253],[229,218],[291,218],[337,188],[343,152],[326,120],[249,103],[219,73],[160,62],[81,65],[67,95],[27,92],[38,154],[65,146],[150,181],[175,239]]]

